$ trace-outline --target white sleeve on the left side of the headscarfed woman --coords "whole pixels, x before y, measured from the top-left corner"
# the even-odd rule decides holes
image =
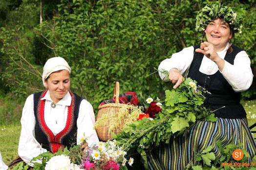
[[[33,99],[34,96],[32,94],[26,99],[22,110],[21,137],[18,148],[19,156],[30,166],[33,166],[33,164],[29,163],[32,158],[38,156],[41,153],[47,152],[47,150],[43,149],[35,138],[36,119],[34,116]]]

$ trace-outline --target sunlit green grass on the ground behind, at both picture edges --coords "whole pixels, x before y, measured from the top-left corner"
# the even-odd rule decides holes
[[[248,124],[251,126],[256,123],[256,100],[241,103],[246,110]],[[21,111],[21,104],[17,102],[12,100],[0,102],[0,152],[6,165],[18,156]],[[253,131],[256,131],[256,127]],[[256,134],[253,135],[256,137]]]

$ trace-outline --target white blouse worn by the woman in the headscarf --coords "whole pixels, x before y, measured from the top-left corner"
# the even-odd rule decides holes
[[[44,105],[44,119],[48,128],[54,135],[60,133],[66,124],[68,106],[71,104],[71,96],[67,93],[62,100],[60,100],[55,108],[51,107],[49,91],[41,99],[45,100]],[[35,138],[35,124],[34,116],[34,95],[31,94],[26,99],[22,110],[21,117],[21,137],[19,142],[18,154],[23,161],[29,163],[33,157],[41,153],[47,152]],[[99,143],[99,138],[96,131],[93,129],[95,124],[95,115],[92,105],[85,99],[81,101],[79,107],[79,115],[77,119],[77,144],[82,141],[82,137],[86,138],[86,142],[91,147]],[[31,165],[31,164],[29,164]]]

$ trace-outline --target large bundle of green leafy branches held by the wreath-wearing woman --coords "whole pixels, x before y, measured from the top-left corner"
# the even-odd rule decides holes
[[[141,152],[154,144],[158,146],[161,141],[168,143],[171,136],[189,132],[196,120],[205,120],[213,115],[202,106],[204,97],[201,91],[192,88],[191,82],[192,79],[187,78],[176,90],[166,90],[162,113],[157,114],[153,120],[144,118],[125,126],[114,137],[117,144],[124,150],[133,148]]]

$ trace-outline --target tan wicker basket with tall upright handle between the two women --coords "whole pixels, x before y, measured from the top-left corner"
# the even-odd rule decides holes
[[[109,118],[96,128],[97,135],[101,141],[107,141],[108,139],[112,139],[111,132],[109,131],[109,125],[112,123],[111,118],[117,117],[120,106],[124,105],[119,103],[119,82],[115,83],[114,97],[116,98],[115,103],[107,103],[99,106],[97,119],[100,119],[101,117],[103,117],[103,115],[107,115],[107,117]],[[120,122],[112,132],[115,135],[119,134],[123,127],[124,122]]]

